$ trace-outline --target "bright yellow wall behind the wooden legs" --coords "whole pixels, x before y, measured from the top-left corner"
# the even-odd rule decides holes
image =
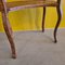
[[[17,0],[8,0],[8,2]],[[62,0],[62,22],[60,28],[65,28],[65,0]],[[14,31],[17,30],[41,30],[42,8],[24,9],[9,13],[9,20]],[[54,28],[57,21],[55,8],[47,8],[46,28]],[[0,13],[0,31],[3,31],[2,17]]]

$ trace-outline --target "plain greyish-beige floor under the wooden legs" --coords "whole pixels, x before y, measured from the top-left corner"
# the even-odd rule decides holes
[[[53,29],[14,32],[17,58],[11,58],[10,43],[0,32],[0,65],[65,65],[65,29],[58,29],[57,43]]]

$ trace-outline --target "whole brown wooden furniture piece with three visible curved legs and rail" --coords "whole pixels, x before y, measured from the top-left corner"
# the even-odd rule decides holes
[[[13,1],[13,2],[6,2],[5,0],[0,0],[0,12],[2,13],[2,22],[3,27],[5,30],[5,34],[8,36],[8,39],[10,41],[11,50],[12,50],[12,57],[16,57],[15,52],[15,46],[13,40],[13,31],[11,28],[11,25],[9,23],[8,13],[10,11],[15,11],[20,9],[28,9],[28,8],[37,8],[42,6],[43,8],[43,16],[42,16],[42,31],[44,31],[44,20],[46,20],[46,8],[47,6],[55,6],[57,12],[57,23],[54,29],[54,42],[56,43],[56,30],[58,28],[58,25],[61,23],[62,14],[61,14],[61,0],[54,1],[54,0],[21,0],[21,1]]]

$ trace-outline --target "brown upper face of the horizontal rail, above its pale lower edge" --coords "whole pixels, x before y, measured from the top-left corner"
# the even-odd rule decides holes
[[[32,5],[32,4],[38,4],[38,5],[56,5],[55,1],[15,1],[15,2],[9,2],[8,8],[14,8],[14,6],[20,6],[20,5]]]

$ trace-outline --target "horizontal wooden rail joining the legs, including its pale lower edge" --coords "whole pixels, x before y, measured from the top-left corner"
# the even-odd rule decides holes
[[[2,9],[0,3],[0,10]],[[44,0],[22,0],[6,2],[6,8],[11,10],[24,9],[24,8],[34,8],[34,6],[55,6],[57,5],[56,1],[44,1]]]

